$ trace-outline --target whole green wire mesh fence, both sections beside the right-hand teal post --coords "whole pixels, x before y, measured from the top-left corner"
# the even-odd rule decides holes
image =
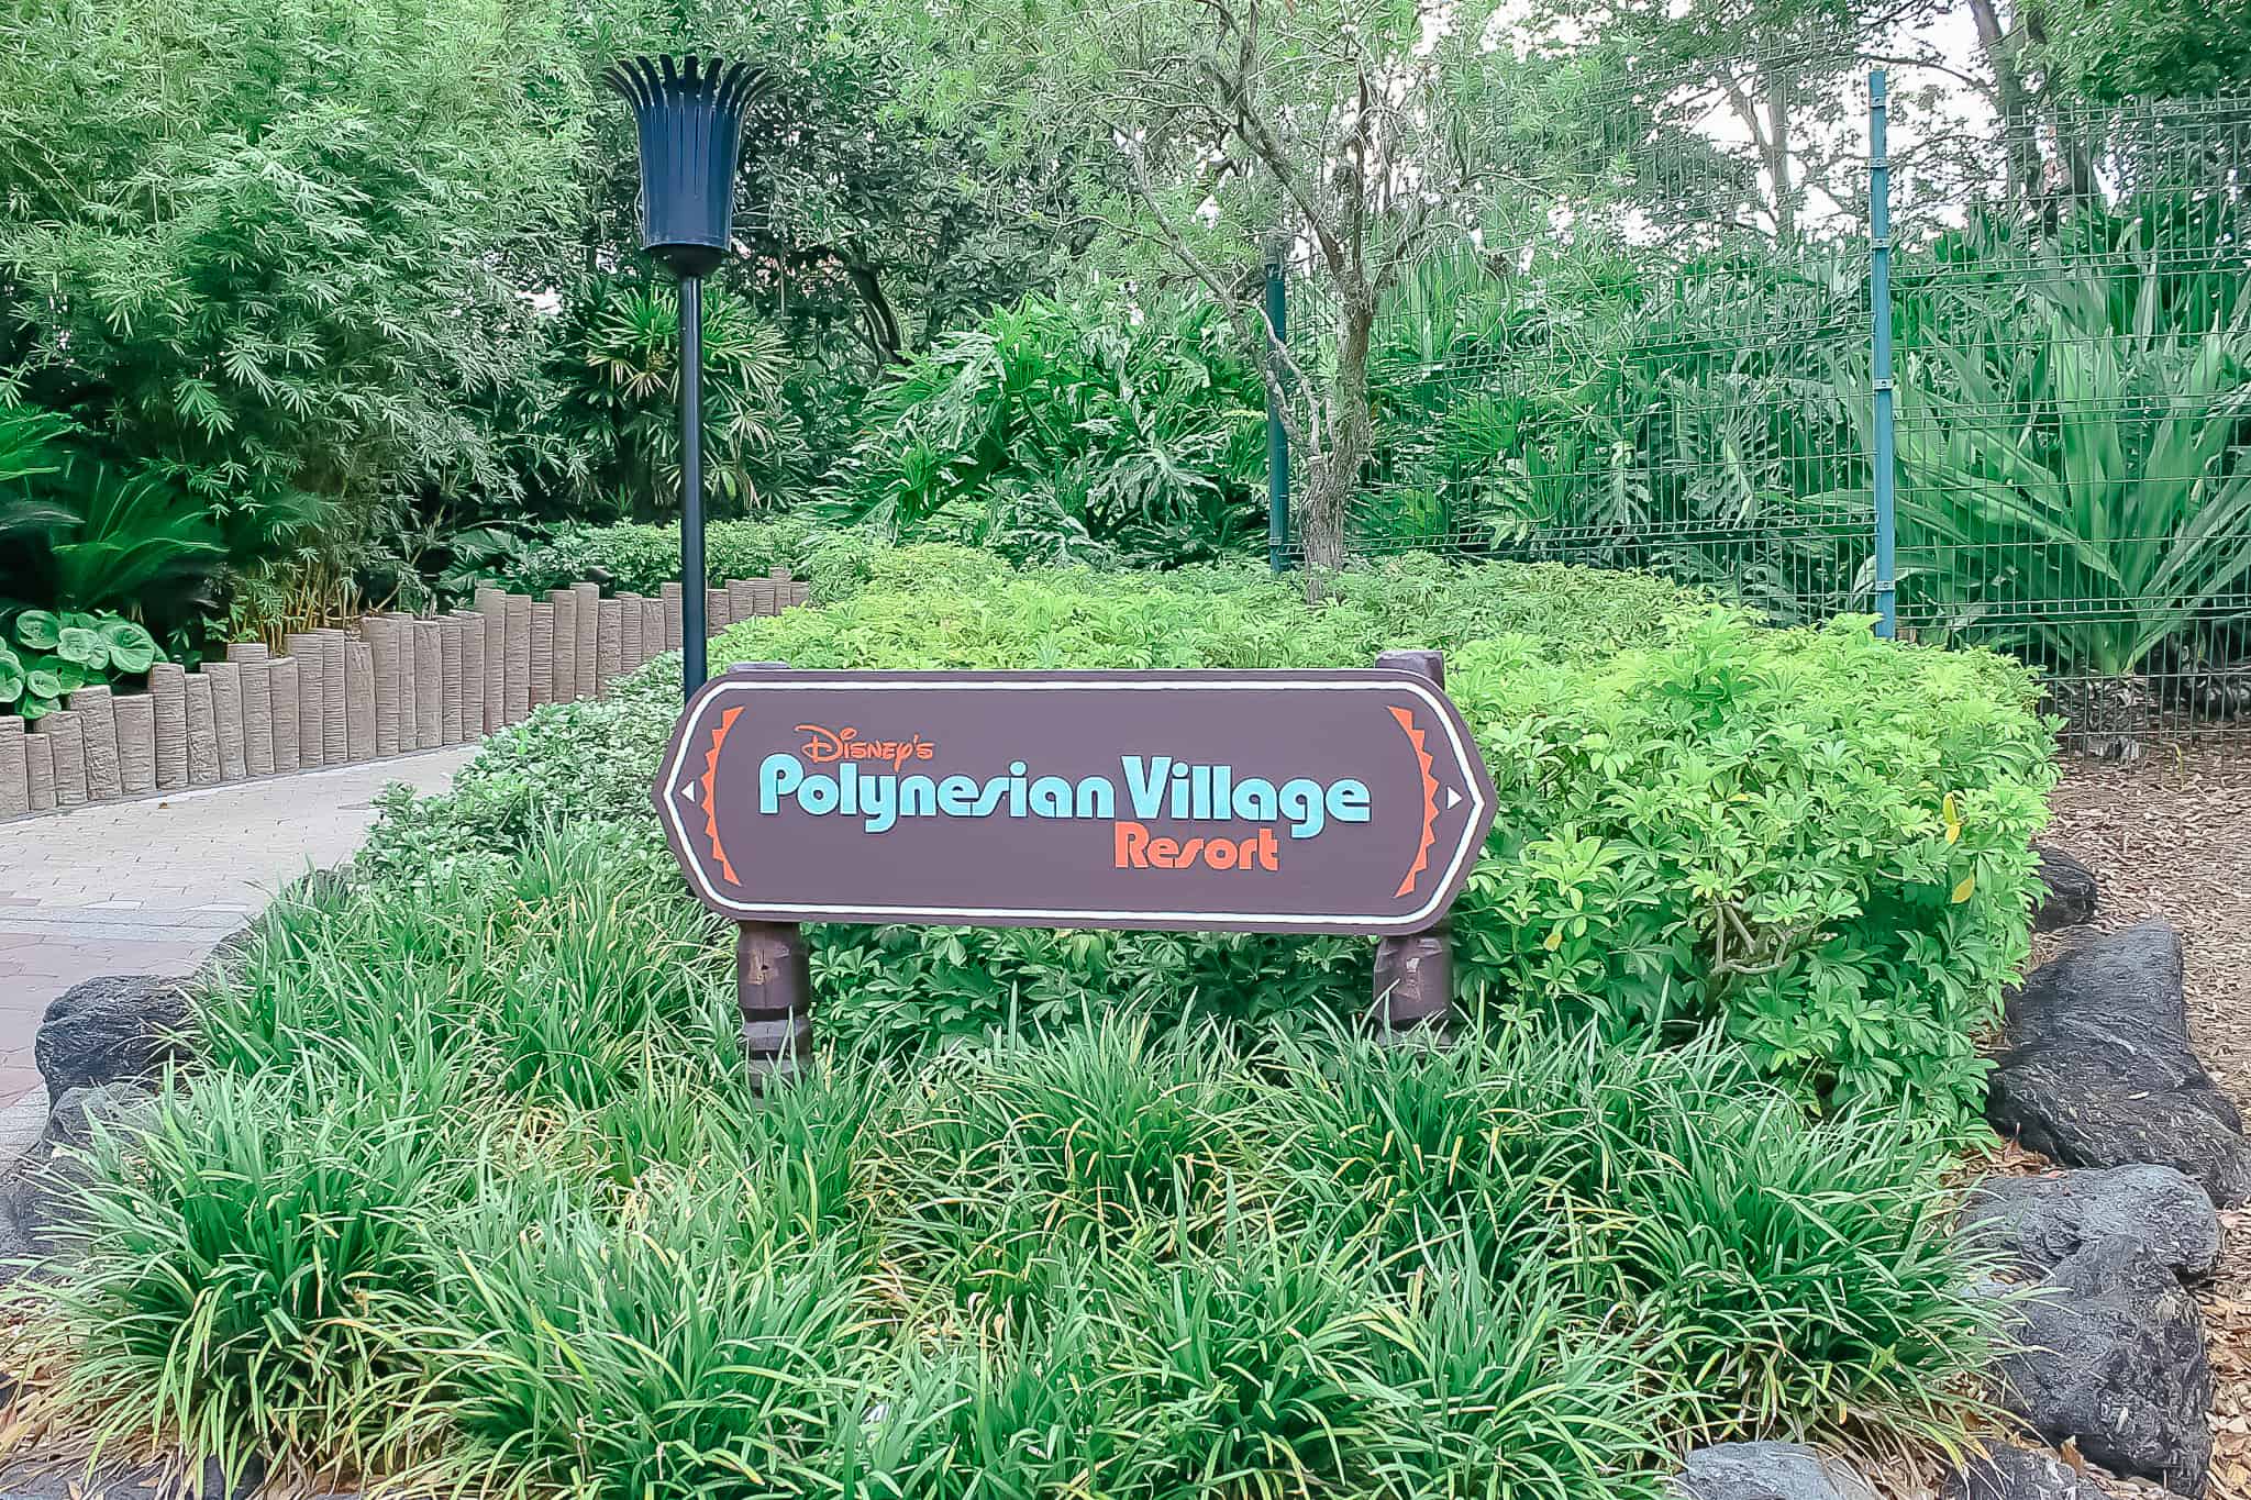
[[[1783,153],[1742,79],[1625,81],[1580,101],[1600,148],[1501,162],[1535,202],[1389,295],[1353,549],[1873,612],[1886,250],[1900,632],[2021,654],[2096,749],[2251,726],[2251,99],[1974,128],[1895,90],[1875,236],[1866,74],[1742,67],[1830,90]]]

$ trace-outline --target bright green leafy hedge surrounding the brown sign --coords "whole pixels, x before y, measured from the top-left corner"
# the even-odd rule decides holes
[[[1470,1005],[1531,1001],[1612,1037],[1718,1023],[1817,1097],[1981,1106],[1974,1037],[2028,951],[2028,839],[2055,776],[2033,686],[1999,657],[1891,645],[1866,621],[1767,630],[1652,578],[1560,567],[1402,562],[1317,607],[1252,571],[1017,576],[925,549],[867,571],[826,609],[736,625],[716,661],[1279,668],[1441,648],[1501,794],[1454,911]],[[551,819],[655,850],[646,778],[673,670],[533,715],[446,796],[398,796],[367,859],[443,868]],[[1119,1005],[1348,1012],[1369,949],[819,927],[815,976],[833,1034],[900,1050]]]

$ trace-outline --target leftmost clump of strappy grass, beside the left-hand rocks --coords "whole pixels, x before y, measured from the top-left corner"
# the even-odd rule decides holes
[[[464,1181],[459,1097],[446,1066],[367,1079],[329,1055],[99,1131],[86,1264],[45,1289],[56,1397],[97,1451],[176,1442],[230,1475],[396,1457],[396,1403],[425,1383],[396,1331],[430,1291],[419,1223]]]

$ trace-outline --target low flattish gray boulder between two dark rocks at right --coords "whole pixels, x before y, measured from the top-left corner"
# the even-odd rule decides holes
[[[2150,1163],[1988,1176],[1963,1203],[1961,1232],[2033,1277],[2120,1235],[2177,1275],[2206,1277],[2219,1262],[2219,1214],[2204,1187]]]

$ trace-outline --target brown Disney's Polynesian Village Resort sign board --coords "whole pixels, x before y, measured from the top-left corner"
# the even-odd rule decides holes
[[[651,789],[738,922],[1414,933],[1492,828],[1470,726],[1398,670],[734,670]]]

